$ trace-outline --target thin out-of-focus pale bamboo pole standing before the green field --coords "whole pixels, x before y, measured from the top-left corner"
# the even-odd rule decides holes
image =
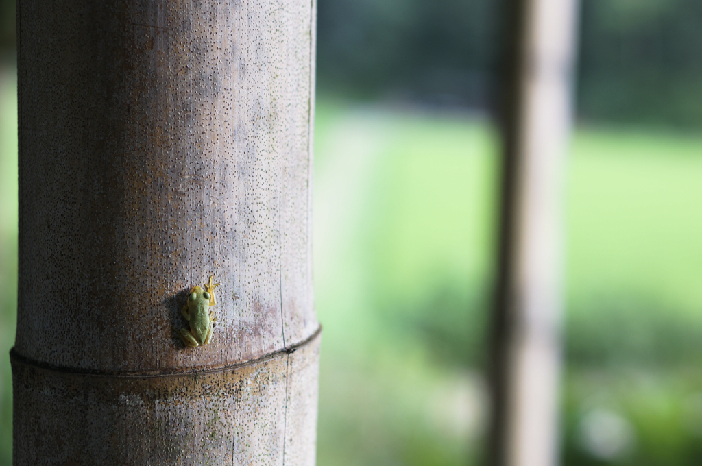
[[[507,0],[488,464],[558,463],[564,155],[577,0]]]

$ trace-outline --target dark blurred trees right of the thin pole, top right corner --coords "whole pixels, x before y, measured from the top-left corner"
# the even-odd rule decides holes
[[[702,127],[702,2],[583,0],[585,119]]]

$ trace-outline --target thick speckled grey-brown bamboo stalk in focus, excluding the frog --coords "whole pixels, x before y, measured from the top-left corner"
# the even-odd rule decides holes
[[[18,2],[15,465],[314,464],[315,4]]]

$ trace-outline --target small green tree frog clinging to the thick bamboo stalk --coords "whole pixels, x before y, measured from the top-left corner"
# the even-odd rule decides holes
[[[178,335],[185,345],[197,348],[201,345],[208,345],[212,339],[212,323],[217,319],[212,317],[210,307],[216,305],[215,301],[215,286],[212,284],[212,278],[205,285],[203,290],[199,286],[194,286],[187,297],[187,304],[180,311],[183,317],[190,322],[190,330],[181,328],[178,330]]]

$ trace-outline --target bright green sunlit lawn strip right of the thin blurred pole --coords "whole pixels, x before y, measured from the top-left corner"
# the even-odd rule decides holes
[[[582,130],[569,169],[568,291],[702,310],[702,136]]]

